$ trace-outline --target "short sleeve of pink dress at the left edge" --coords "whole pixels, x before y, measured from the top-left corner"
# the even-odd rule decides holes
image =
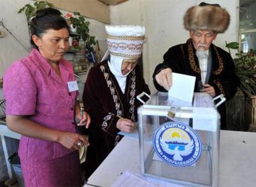
[[[4,74],[7,115],[35,114],[36,86],[28,68],[15,62]]]

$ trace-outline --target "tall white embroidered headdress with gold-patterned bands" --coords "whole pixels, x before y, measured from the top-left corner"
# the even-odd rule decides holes
[[[142,54],[144,26],[106,25],[106,34],[111,55],[134,59]]]

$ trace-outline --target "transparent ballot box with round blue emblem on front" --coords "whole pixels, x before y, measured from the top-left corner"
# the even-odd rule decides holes
[[[158,92],[138,109],[143,175],[184,186],[218,186],[220,114],[208,94],[192,103]]]

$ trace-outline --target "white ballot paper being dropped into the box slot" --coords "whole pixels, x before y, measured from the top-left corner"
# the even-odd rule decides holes
[[[169,89],[168,96],[192,103],[195,77],[186,74],[172,73],[173,86]]]

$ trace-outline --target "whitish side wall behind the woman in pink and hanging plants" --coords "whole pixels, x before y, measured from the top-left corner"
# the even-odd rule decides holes
[[[12,34],[14,34],[27,49],[30,49],[30,37],[25,14],[18,14],[18,10],[27,3],[34,3],[32,0],[0,0],[0,21],[4,22]],[[98,39],[101,53],[106,51],[105,23],[87,19],[90,22],[90,34]],[[0,38],[0,77],[12,62],[28,55],[28,52],[15,41],[11,34],[7,33],[2,26],[6,36]]]

